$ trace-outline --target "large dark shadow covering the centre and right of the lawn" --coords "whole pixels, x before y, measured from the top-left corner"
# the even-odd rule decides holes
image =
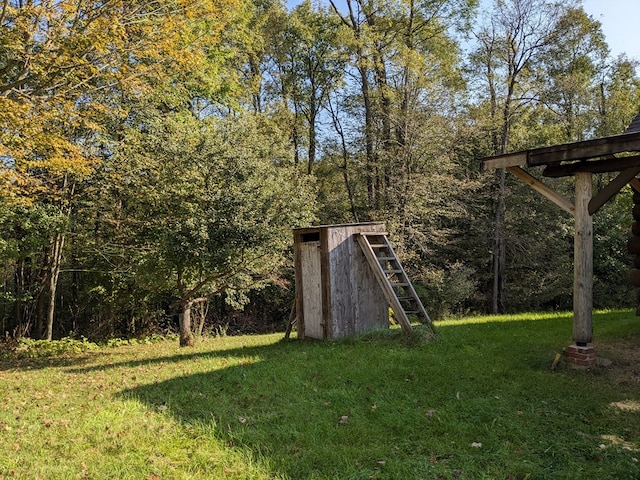
[[[548,369],[570,340],[570,318],[440,332],[439,341],[414,346],[399,334],[374,334],[109,368],[204,362],[206,371],[121,395],[246,449],[289,478],[578,478],[569,475],[578,464],[590,478],[630,471],[630,459],[624,467],[618,457],[603,463],[590,418],[618,394],[596,388],[597,377]]]

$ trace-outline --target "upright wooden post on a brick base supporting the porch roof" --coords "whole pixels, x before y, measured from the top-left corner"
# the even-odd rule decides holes
[[[593,219],[589,172],[578,172],[575,198],[575,235],[573,239],[573,340],[585,346],[593,336]]]

